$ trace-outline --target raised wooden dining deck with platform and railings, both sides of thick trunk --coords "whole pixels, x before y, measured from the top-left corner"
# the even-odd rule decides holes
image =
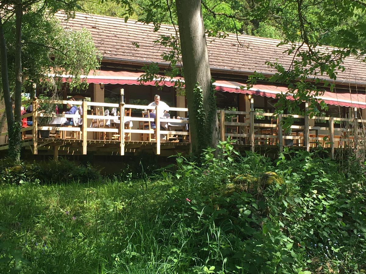
[[[23,128],[22,146],[34,155],[134,155],[138,153],[155,153],[156,155],[170,156],[176,153],[189,153],[189,121],[180,119],[155,119],[145,117],[143,111],[155,110],[158,107],[147,107],[130,104],[111,104],[78,101],[46,101],[33,99],[33,113],[23,115],[33,117],[33,126]],[[91,114],[45,114],[37,110],[38,103],[67,104],[82,106],[83,110],[91,109]],[[105,109],[116,108],[118,114],[105,115]],[[134,115],[131,116],[131,110]],[[186,117],[188,109],[170,108],[177,111],[181,117]],[[123,113],[124,115],[120,115]],[[273,113],[256,113],[254,111],[224,111],[219,115],[220,139],[227,137],[235,139],[235,147],[239,150],[249,149],[260,151],[269,149],[282,151],[284,146],[291,145],[297,149],[310,151],[311,148],[322,146],[334,157],[338,148],[355,148],[365,146],[366,120],[357,119],[357,110],[354,109],[353,118],[337,117],[309,117],[307,115],[289,115]],[[139,117],[138,117],[139,116]],[[283,129],[283,120],[292,116],[295,123],[291,125],[291,132]],[[80,126],[40,125],[40,117],[52,119],[73,118],[82,122]],[[63,120],[64,121],[64,120]],[[109,125],[107,126],[109,121]],[[244,122],[239,122],[244,121]],[[156,129],[150,128],[154,122]],[[171,126],[173,129],[171,129]],[[161,127],[165,130],[161,130]],[[178,129],[174,129],[178,128]],[[39,130],[54,133],[50,138],[41,138]],[[30,133],[27,134],[26,133]],[[59,134],[55,134],[59,133]],[[1,133],[0,151],[8,149],[7,132]],[[123,138],[121,138],[123,136]],[[5,137],[5,138],[4,138]],[[161,140],[166,138],[167,141]],[[179,142],[171,142],[171,140]]]

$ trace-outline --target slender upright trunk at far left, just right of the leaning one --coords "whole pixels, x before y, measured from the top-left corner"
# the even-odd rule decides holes
[[[15,7],[15,103],[14,125],[9,132],[9,156],[14,161],[20,160],[20,107],[22,106],[22,1]]]

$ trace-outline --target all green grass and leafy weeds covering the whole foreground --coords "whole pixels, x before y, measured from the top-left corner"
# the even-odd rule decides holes
[[[143,180],[3,184],[0,272],[365,273],[362,164],[219,148]]]

